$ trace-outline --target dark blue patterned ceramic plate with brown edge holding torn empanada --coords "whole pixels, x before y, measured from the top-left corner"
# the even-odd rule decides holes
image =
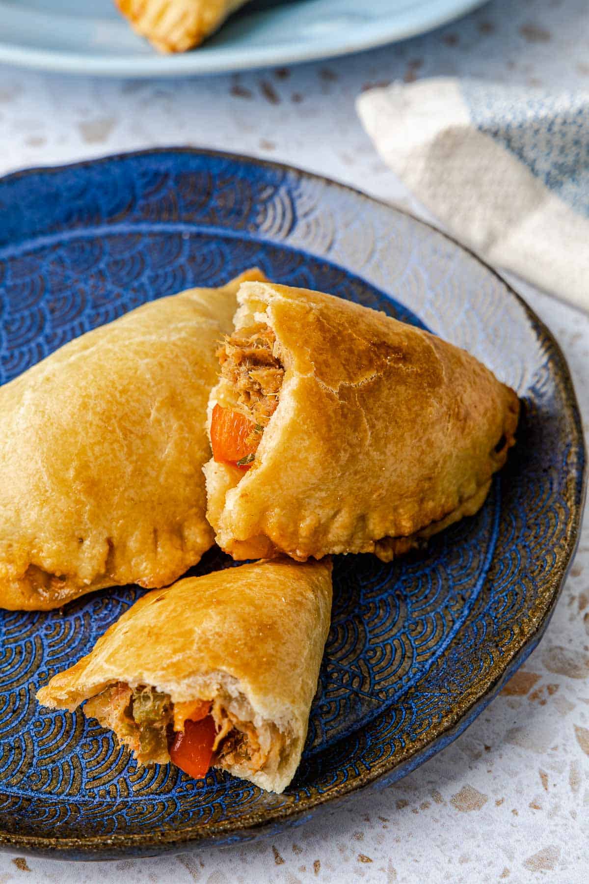
[[[486,505],[392,564],[335,562],[333,623],[306,751],[281,796],[214,771],[138,768],[38,686],[138,598],[0,613],[0,844],[110,857],[227,844],[389,783],[481,712],[540,640],[578,537],[585,456],[547,329],[500,278],[412,217],[253,159],[162,150],[0,181],[0,380],[143,301],[258,264],[466,347],[523,399],[518,444]],[[195,569],[228,567],[218,551]]]

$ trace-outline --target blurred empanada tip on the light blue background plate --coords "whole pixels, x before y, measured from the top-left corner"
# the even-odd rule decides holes
[[[133,29],[160,52],[185,52],[247,0],[115,0]]]

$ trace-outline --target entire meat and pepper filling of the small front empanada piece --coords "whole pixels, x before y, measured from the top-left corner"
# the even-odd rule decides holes
[[[196,779],[210,766],[245,775],[276,772],[286,735],[274,722],[241,720],[233,705],[229,696],[173,704],[155,688],[117,682],[87,700],[85,712],[113,730],[143,765],[172,761]]]

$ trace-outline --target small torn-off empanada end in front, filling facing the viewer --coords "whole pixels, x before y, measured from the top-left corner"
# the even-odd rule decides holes
[[[37,694],[85,712],[141,764],[211,763],[282,792],[306,738],[331,610],[331,562],[273,560],[147,593]]]

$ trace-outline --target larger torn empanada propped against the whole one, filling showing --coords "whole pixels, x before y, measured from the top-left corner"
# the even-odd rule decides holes
[[[238,301],[205,467],[223,550],[387,561],[481,507],[519,411],[484,365],[328,294],[250,282]]]

